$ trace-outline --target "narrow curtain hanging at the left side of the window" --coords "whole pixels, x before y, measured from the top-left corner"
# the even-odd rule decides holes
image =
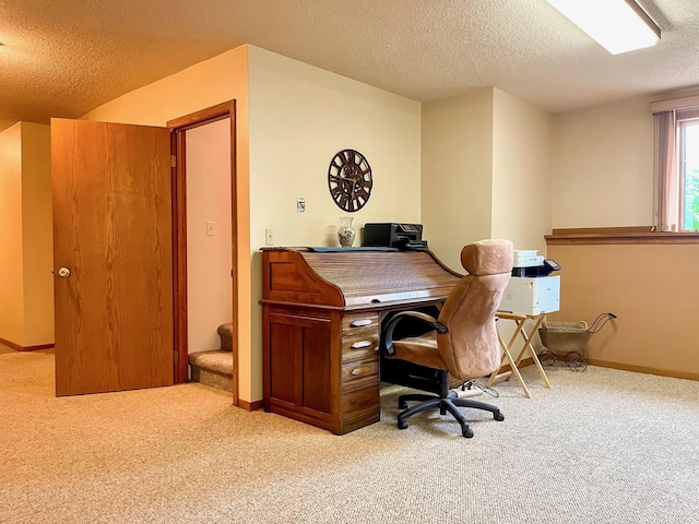
[[[677,150],[677,112],[672,109],[655,114],[655,203],[656,231],[676,231],[679,227]]]

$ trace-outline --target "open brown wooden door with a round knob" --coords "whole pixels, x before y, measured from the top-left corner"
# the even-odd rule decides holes
[[[51,177],[56,394],[173,384],[169,131],[54,119]]]

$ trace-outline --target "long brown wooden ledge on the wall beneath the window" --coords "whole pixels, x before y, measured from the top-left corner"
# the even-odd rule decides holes
[[[554,229],[546,246],[699,243],[699,233],[654,231],[652,226]]]

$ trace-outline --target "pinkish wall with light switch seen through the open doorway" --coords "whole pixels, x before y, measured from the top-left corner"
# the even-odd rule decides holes
[[[233,321],[230,119],[186,131],[189,353],[221,348]],[[213,231],[209,224],[213,224]]]

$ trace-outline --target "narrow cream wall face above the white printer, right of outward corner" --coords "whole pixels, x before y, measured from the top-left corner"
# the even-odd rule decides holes
[[[546,253],[552,233],[552,116],[494,90],[493,227],[514,249]]]

